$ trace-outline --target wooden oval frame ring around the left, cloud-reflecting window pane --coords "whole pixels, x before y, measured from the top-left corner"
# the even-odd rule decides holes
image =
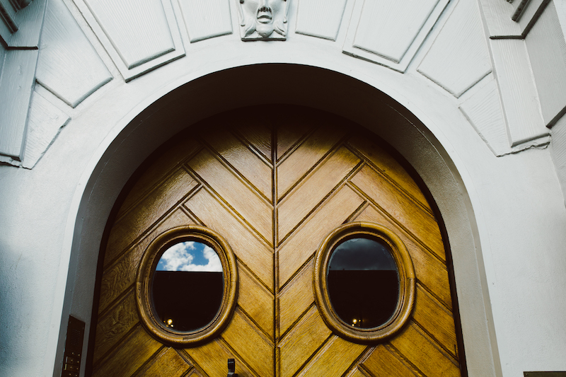
[[[207,326],[190,332],[180,332],[161,323],[151,298],[151,284],[161,255],[172,245],[191,240],[209,245],[218,254],[222,264],[224,291],[220,309]],[[191,347],[212,339],[229,323],[236,306],[237,294],[238,272],[236,269],[236,257],[230,245],[222,236],[204,226],[178,226],[161,233],[149,244],[141,257],[136,277],[137,310],[141,323],[143,323],[151,335],[161,342]]]

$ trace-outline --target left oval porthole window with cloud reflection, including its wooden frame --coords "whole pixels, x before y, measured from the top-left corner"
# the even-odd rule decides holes
[[[236,274],[236,259],[219,234],[203,226],[166,231],[138,269],[142,323],[159,340],[185,347],[214,337],[233,312]]]

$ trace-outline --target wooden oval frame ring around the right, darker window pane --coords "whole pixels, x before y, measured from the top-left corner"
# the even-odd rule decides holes
[[[376,238],[386,243],[391,248],[391,255],[398,268],[399,297],[397,306],[391,318],[379,327],[368,329],[352,327],[338,317],[330,303],[328,280],[326,278],[330,255],[340,242],[356,236]],[[316,251],[313,269],[313,290],[316,306],[326,325],[335,334],[352,342],[375,343],[395,335],[412,313],[415,304],[415,280],[415,268],[405,244],[393,231],[379,224],[353,222],[339,226],[326,236]]]

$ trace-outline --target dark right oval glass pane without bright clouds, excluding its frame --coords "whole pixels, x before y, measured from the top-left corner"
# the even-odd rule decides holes
[[[353,327],[378,327],[395,312],[399,273],[388,246],[379,240],[350,238],[337,245],[327,279],[335,313]]]

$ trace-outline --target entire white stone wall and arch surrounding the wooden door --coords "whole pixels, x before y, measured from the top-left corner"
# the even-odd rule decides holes
[[[264,2],[274,23],[248,33]],[[60,376],[69,314],[88,347],[100,240],[139,164],[205,117],[265,103],[358,122],[421,175],[468,376],[566,370],[565,9],[49,0],[39,50],[0,45],[0,376]]]

